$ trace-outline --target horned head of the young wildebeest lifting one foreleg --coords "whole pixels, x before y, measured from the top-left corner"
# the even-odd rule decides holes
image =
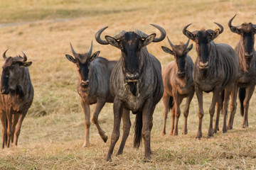
[[[89,52],[85,53],[85,54],[77,54],[74,50],[72,45],[71,46],[71,50],[73,51],[73,55],[74,57],[72,57],[71,55],[65,55],[67,57],[67,59],[70,62],[73,62],[76,64],[77,68],[78,68],[78,75],[79,75],[79,79],[80,79],[80,86],[86,87],[89,84],[89,72],[90,72],[90,62],[92,62],[93,60],[95,60],[96,57],[98,57],[100,55],[100,51],[95,52],[92,56],[91,56],[91,48],[89,50]],[[91,46],[92,47],[92,46]]]

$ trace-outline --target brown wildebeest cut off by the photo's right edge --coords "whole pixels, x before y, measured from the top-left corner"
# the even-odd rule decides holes
[[[235,15],[236,16],[236,15]],[[232,26],[232,21],[235,18],[230,19],[228,26],[233,33],[240,35],[240,40],[235,46],[235,52],[238,52],[239,56],[239,72],[238,72],[238,86],[234,89],[233,95],[235,98],[238,94],[240,97],[241,114],[243,115],[242,128],[247,128],[248,124],[248,108],[250,98],[256,84],[256,52],[254,49],[256,25],[252,23],[242,23],[241,26]],[[233,128],[233,120],[235,117],[235,108],[231,109],[230,119],[228,121],[228,129]]]

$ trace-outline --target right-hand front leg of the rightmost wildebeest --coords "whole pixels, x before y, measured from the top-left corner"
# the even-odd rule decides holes
[[[249,109],[250,98],[252,97],[254,90],[255,90],[255,85],[251,85],[246,88],[245,101],[243,102],[244,117],[243,117],[243,121],[242,121],[242,128],[247,128],[249,126],[249,124],[248,124],[248,109]]]

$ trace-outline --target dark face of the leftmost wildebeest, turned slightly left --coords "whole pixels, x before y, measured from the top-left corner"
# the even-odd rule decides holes
[[[32,62],[15,61],[13,57],[8,57],[3,66],[1,74],[1,94],[9,94],[9,89],[16,89],[21,79],[22,67],[28,67]]]

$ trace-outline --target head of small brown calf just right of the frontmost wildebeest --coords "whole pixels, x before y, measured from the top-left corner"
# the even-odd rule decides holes
[[[168,39],[169,40],[169,39]],[[170,42],[170,40],[169,40]],[[168,47],[162,46],[161,48],[164,50],[164,52],[167,52],[171,55],[174,55],[174,59],[176,62],[176,65],[178,67],[178,76],[179,77],[184,77],[186,73],[186,55],[188,52],[192,49],[193,45],[191,44],[188,47],[188,42],[186,45],[172,45],[170,42],[170,45],[172,47],[172,50],[169,49]]]

